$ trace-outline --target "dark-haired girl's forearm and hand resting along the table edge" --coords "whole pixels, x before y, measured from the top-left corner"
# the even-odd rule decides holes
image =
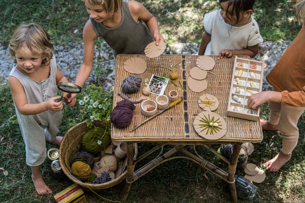
[[[222,58],[230,58],[231,56],[250,56],[250,58],[253,58],[256,56],[258,52],[258,44],[254,46],[247,46],[246,49],[240,49],[240,50],[228,50],[228,49],[222,49],[221,52],[218,55],[218,59]]]

